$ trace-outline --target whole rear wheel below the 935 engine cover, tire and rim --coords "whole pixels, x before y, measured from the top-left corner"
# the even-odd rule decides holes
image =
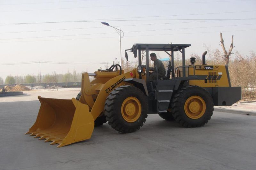
[[[211,119],[213,105],[208,91],[198,86],[186,86],[172,99],[172,115],[184,127],[200,127]]]

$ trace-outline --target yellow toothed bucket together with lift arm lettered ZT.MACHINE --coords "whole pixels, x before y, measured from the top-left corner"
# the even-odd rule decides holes
[[[135,78],[136,69],[123,73],[95,72],[95,79],[90,82],[89,74],[82,74],[82,95],[75,98],[53,99],[38,96],[41,103],[36,122],[26,134],[34,135],[44,142],[59,144],[62,147],[71,143],[90,139],[94,120],[101,115],[108,94],[115,88],[129,84],[126,78]]]

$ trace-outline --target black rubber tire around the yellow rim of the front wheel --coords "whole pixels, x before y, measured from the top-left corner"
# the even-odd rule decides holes
[[[137,98],[141,105],[140,117],[134,122],[126,121],[121,113],[122,104],[128,97]],[[108,95],[105,102],[104,114],[108,124],[121,133],[131,133],[139,130],[148,117],[146,95],[134,86],[120,86]]]

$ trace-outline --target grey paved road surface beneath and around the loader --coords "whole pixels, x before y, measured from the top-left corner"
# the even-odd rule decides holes
[[[62,148],[24,135],[38,101],[0,103],[0,169],[255,169],[256,117],[214,112],[202,128],[149,115],[137,132],[108,124]]]

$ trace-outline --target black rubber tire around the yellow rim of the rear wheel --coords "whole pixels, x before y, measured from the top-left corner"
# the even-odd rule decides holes
[[[191,119],[185,113],[185,102],[189,97],[199,96],[205,102],[205,112],[198,119]],[[204,126],[212,116],[213,112],[213,99],[208,91],[198,86],[186,86],[181,88],[172,98],[172,115],[174,119],[186,128],[195,128]]]

